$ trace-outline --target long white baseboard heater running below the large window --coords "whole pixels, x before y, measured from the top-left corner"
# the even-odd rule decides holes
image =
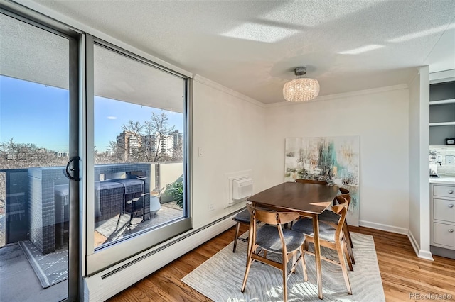
[[[174,259],[228,230],[232,225],[235,225],[231,219],[235,213],[196,230],[191,230],[189,233],[154,250],[143,252],[134,259],[125,261],[126,263],[117,264],[103,272],[85,277],[83,301],[105,301],[107,298],[127,289],[127,287],[156,272]]]

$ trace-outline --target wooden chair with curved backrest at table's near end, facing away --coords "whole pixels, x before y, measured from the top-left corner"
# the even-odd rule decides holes
[[[245,276],[243,278],[242,293],[245,291],[247,285],[251,264],[255,261],[259,261],[282,270],[283,296],[284,301],[287,301],[287,279],[295,272],[299,262],[301,262],[302,265],[304,280],[306,281],[308,279],[302,253],[305,235],[282,228],[284,223],[289,223],[299,217],[299,213],[255,208],[250,204],[247,204],[247,209],[251,214],[250,237],[248,242],[247,268],[245,269]],[[258,220],[265,224],[258,228]],[[259,255],[261,252],[263,253],[262,256]],[[267,252],[281,254],[282,262],[268,259]],[[295,259],[295,262],[292,263],[291,269],[289,269],[288,272],[287,264],[291,259]],[[258,267],[258,269],[260,269],[260,267]]]

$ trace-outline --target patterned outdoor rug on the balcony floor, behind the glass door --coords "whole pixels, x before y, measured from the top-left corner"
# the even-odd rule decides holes
[[[19,241],[43,289],[68,279],[68,246],[43,255],[29,240]]]

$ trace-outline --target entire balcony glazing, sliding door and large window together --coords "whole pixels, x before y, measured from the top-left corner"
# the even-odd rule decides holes
[[[75,301],[191,229],[189,79],[0,5],[0,301]]]

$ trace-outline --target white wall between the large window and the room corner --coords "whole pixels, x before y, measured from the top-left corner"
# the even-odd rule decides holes
[[[193,227],[242,208],[228,203],[226,174],[251,170],[253,189],[264,187],[265,108],[255,100],[196,76],[193,82]],[[198,150],[202,148],[203,157]],[[209,211],[210,204],[215,207]]]

